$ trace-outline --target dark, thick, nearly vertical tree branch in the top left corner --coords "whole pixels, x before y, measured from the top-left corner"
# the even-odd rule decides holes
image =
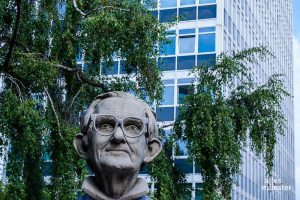
[[[3,63],[3,69],[5,71],[7,71],[8,69],[8,65],[9,65],[9,61],[11,59],[13,50],[14,50],[14,46],[17,40],[17,35],[19,32],[19,28],[20,28],[20,18],[21,18],[21,0],[16,0],[16,6],[17,6],[17,16],[16,16],[16,23],[14,26],[14,30],[13,30],[13,35],[12,38],[9,42],[9,50],[8,53],[5,57],[4,63]]]

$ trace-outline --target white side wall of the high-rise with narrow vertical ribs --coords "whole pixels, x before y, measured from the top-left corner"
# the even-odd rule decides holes
[[[292,1],[225,0],[219,1],[218,6],[223,12],[218,17],[223,19],[224,51],[268,47],[274,58],[253,65],[251,73],[254,80],[263,84],[274,73],[285,74],[286,90],[293,94]],[[240,186],[234,187],[233,199],[295,199],[293,110],[293,98],[286,97],[282,111],[287,119],[287,128],[285,136],[278,137],[274,179],[266,180],[263,161],[248,150],[244,153],[243,175],[237,177]],[[262,186],[268,181],[279,181],[291,186],[291,189],[263,191]]]

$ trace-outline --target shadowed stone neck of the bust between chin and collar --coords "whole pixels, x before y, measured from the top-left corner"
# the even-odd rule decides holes
[[[128,193],[134,186],[137,172],[104,172],[96,174],[96,183],[100,190],[109,197],[117,198]]]

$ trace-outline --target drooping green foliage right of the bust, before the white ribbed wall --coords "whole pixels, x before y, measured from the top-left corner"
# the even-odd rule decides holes
[[[263,155],[271,173],[277,134],[285,127],[280,103],[288,94],[280,75],[261,86],[252,80],[249,66],[267,55],[265,48],[252,48],[221,54],[215,65],[193,69],[199,77],[193,85],[196,91],[185,98],[175,130],[201,166],[205,199],[231,198],[233,177],[240,172],[247,145]],[[237,87],[235,77],[241,78]]]

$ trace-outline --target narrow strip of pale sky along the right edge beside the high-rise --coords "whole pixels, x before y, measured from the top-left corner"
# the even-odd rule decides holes
[[[300,200],[300,1],[293,1],[296,199]]]

